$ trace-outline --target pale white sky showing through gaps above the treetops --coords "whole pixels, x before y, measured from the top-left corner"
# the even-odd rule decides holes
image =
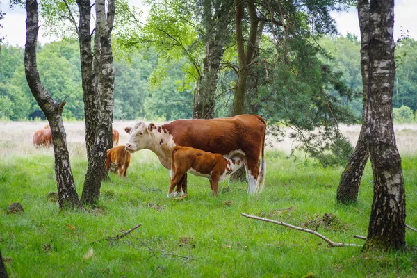
[[[0,0],[1,1],[1,0]],[[131,0],[131,3],[140,7],[142,0]],[[26,40],[26,11],[22,8],[10,10],[8,1],[0,2],[0,10],[6,13],[5,18],[0,21],[3,28],[0,29],[0,37],[6,37],[5,42],[12,45],[24,46]],[[356,8],[350,8],[347,12],[332,13],[336,19],[337,27],[341,35],[347,32],[353,33],[360,38],[359,23]],[[417,0],[397,0],[395,1],[395,22],[394,39],[400,38],[401,30],[408,30],[409,36],[417,40]],[[39,31],[38,41],[42,44],[56,40],[44,36],[42,26]]]

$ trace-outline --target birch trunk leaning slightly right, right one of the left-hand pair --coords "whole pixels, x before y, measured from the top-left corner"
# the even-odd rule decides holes
[[[97,124],[97,126],[95,129],[95,142],[92,146],[87,174],[85,175],[83,194],[81,195],[81,202],[90,205],[96,204],[100,197],[101,181],[104,179],[106,172],[104,165],[104,162],[106,161],[106,151],[107,149],[111,149],[113,145],[112,120],[114,73],[113,54],[111,51],[111,31],[113,29],[115,15],[115,1],[108,1],[107,16],[104,0],[96,1],[95,10],[97,20],[95,49],[99,49],[99,53],[96,53],[96,56],[99,56],[99,61],[98,63],[95,63],[95,65],[99,67],[99,70],[97,71],[99,72],[99,79],[98,88],[97,85],[94,86],[94,77],[92,79],[93,87],[95,87],[95,101],[92,103],[92,106],[97,108],[98,104],[99,110],[95,112],[97,114],[94,115],[98,115],[98,121],[97,117],[92,117],[90,119],[85,118],[86,123],[88,120],[92,120],[95,121],[94,124]]]

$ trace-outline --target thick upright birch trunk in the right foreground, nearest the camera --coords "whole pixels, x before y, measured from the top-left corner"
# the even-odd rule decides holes
[[[366,139],[374,176],[374,197],[363,250],[405,247],[405,193],[401,158],[393,131],[395,61],[394,0],[358,0],[359,22],[367,20],[368,97]],[[362,28],[361,28],[361,31]]]

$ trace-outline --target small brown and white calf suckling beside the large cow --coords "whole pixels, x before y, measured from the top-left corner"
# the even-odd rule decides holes
[[[213,196],[217,197],[218,183],[224,181],[224,179],[242,166],[243,159],[241,156],[227,158],[221,154],[204,152],[201,149],[176,146],[172,149],[171,185],[167,197],[172,195],[174,187],[177,186],[177,183],[187,172],[209,179]]]

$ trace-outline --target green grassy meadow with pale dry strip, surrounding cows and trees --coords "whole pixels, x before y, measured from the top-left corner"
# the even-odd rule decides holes
[[[115,122],[120,145],[128,135]],[[266,152],[263,193],[223,181],[213,198],[207,179],[188,176],[188,197],[167,198],[169,171],[150,151],[136,152],[126,179],[111,174],[87,212],[60,211],[52,149],[34,149],[45,122],[0,122],[0,250],[10,277],[416,277],[417,233],[406,252],[327,247],[312,234],[252,220],[240,213],[315,229],[333,241],[363,244],[373,200],[366,166],[358,203],[335,202],[343,167],[288,158],[291,142]],[[65,123],[72,172],[81,196],[87,168],[84,124]],[[343,126],[356,142],[359,126]],[[417,226],[417,126],[396,126],[407,197],[406,222]],[[24,213],[10,214],[20,202]],[[127,236],[114,237],[142,224]],[[109,239],[113,237],[113,240]]]

